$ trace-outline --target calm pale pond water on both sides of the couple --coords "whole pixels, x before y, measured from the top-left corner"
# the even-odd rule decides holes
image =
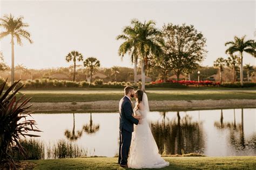
[[[90,154],[118,153],[119,114],[34,114],[45,144],[74,141]],[[151,112],[152,133],[161,153],[208,156],[256,155],[256,109]]]

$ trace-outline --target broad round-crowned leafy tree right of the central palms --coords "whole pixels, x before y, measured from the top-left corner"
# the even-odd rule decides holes
[[[179,80],[180,74],[193,70],[203,61],[206,54],[206,38],[193,25],[163,26],[165,46],[163,52],[169,55],[171,68]]]

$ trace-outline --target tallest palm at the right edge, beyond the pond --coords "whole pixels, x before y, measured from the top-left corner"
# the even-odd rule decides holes
[[[244,76],[242,75],[242,58],[243,58],[243,52],[249,53],[256,57],[256,52],[255,52],[255,46],[256,43],[254,40],[247,40],[245,41],[245,36],[239,38],[237,36],[234,37],[234,41],[228,41],[225,43],[225,46],[229,45],[229,47],[226,50],[226,53],[235,53],[239,52],[240,53],[240,82],[241,86],[244,85]]]

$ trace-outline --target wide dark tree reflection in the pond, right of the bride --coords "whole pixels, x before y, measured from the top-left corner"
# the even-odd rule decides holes
[[[161,112],[163,123],[152,123],[152,133],[156,139],[156,143],[161,153],[164,154],[181,154],[181,150],[185,153],[204,152],[205,142],[204,131],[201,128],[201,121],[192,121],[192,116],[177,116],[171,121],[166,119],[166,112]]]

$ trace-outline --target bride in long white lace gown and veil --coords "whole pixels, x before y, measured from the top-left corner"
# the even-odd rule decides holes
[[[147,121],[149,114],[149,102],[147,95],[142,90],[137,90],[135,118],[141,117],[140,123],[134,127],[130,147],[130,155],[127,165],[129,168],[163,168],[169,166],[169,162],[161,158],[158,147],[152,135],[150,125]]]

